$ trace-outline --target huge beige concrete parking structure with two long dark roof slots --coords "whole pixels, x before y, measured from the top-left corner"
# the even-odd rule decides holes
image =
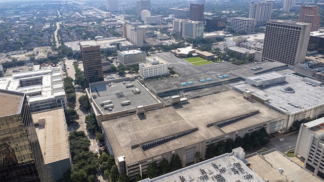
[[[221,106],[221,107],[219,107]],[[102,121],[107,149],[120,173],[131,179],[146,173],[150,163],[178,154],[183,166],[205,156],[210,144],[243,137],[262,127],[279,129],[288,118],[234,90],[190,99],[188,104],[146,110]]]

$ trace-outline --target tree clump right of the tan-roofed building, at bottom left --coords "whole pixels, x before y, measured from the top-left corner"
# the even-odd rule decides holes
[[[89,151],[90,141],[84,131],[73,130],[69,134],[72,168],[64,177],[65,181],[92,182],[99,171],[98,155]]]

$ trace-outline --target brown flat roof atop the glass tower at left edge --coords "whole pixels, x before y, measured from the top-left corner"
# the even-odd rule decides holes
[[[0,89],[0,117],[20,113],[24,96],[24,93]]]

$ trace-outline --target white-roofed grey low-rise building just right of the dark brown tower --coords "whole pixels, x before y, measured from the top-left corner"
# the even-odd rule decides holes
[[[146,53],[141,49],[128,50],[128,51],[118,51],[117,52],[118,61],[127,66],[139,63],[145,63]]]

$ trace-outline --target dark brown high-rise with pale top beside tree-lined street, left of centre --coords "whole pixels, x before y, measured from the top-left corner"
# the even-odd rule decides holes
[[[93,82],[103,81],[99,44],[94,40],[80,41],[80,49],[87,85]]]

